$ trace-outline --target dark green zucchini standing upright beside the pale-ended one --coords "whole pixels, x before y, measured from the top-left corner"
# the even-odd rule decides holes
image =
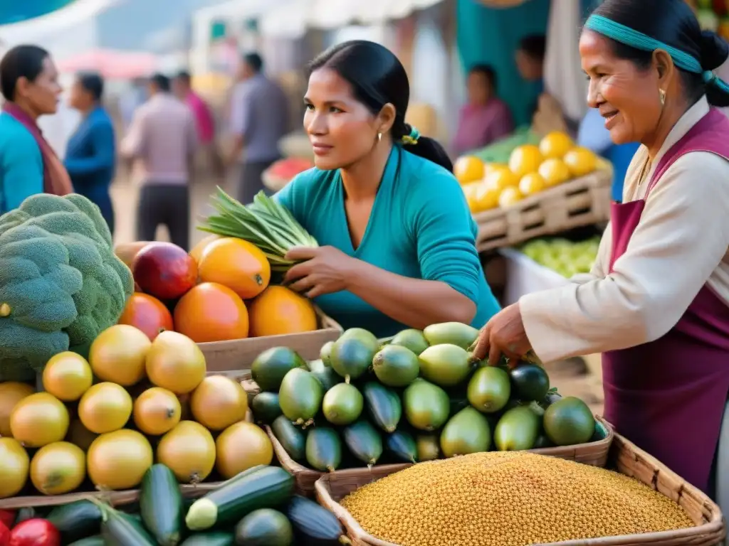
[[[144,526],[161,546],[182,540],[182,494],[174,473],[164,464],[153,464],[141,480],[139,513]]]

